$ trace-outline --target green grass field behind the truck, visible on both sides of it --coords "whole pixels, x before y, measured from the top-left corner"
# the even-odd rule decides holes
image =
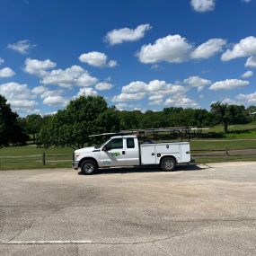
[[[203,153],[208,150],[256,149],[256,121],[240,126],[230,126],[229,133],[223,134],[223,127],[217,126],[204,131],[202,138],[190,141],[191,153]],[[207,137],[216,133],[220,137]],[[207,138],[205,138],[207,137]],[[165,140],[166,141],[166,140]],[[198,151],[200,150],[200,152]],[[46,165],[42,164],[42,154],[46,153]],[[50,147],[49,149],[29,146],[9,146],[0,148],[0,170],[19,170],[35,168],[71,167],[71,147]],[[198,163],[225,161],[256,161],[256,155],[226,157],[194,157]]]

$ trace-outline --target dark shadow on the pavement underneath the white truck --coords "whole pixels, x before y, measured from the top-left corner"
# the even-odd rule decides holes
[[[190,164],[179,164],[176,167],[176,170],[172,172],[195,172],[199,170],[209,169],[210,166],[205,165],[204,167],[199,167],[195,163]],[[99,174],[125,174],[125,173],[139,173],[139,172],[163,172],[158,166],[139,166],[139,167],[114,167],[114,168],[100,168],[98,172],[94,175]],[[84,175],[83,172],[78,172],[79,175]]]

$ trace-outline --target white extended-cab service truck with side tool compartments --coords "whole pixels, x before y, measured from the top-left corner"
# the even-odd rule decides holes
[[[75,150],[72,165],[93,174],[98,168],[114,166],[159,165],[163,171],[172,171],[177,163],[190,163],[190,142],[139,144],[137,136],[126,135],[110,137],[102,146]]]

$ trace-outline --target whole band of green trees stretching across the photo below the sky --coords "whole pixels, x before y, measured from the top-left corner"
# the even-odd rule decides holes
[[[136,128],[206,128],[221,124],[227,133],[229,125],[251,122],[255,111],[255,106],[246,109],[243,105],[216,102],[209,111],[170,107],[143,113],[109,107],[102,96],[81,96],[56,114],[21,118],[0,95],[0,146],[23,145],[31,135],[36,145],[80,148],[92,142],[92,134]]]

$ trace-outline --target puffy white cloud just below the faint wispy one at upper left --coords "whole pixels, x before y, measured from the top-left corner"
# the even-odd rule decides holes
[[[50,59],[39,60],[27,58],[25,60],[25,72],[31,75],[44,76],[48,74],[48,69],[54,68],[56,66],[55,62]]]

